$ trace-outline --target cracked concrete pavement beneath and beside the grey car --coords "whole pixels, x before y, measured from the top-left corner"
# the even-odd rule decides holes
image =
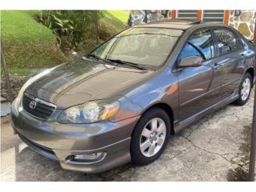
[[[254,92],[253,92],[254,93]],[[171,136],[162,156],[148,166],[128,163],[102,174],[62,170],[58,162],[30,150],[14,135],[9,119],[1,124],[1,181],[228,181],[245,156],[253,97],[229,105]]]

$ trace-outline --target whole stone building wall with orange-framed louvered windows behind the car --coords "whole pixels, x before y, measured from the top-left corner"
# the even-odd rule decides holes
[[[145,11],[139,10],[138,15],[134,11],[130,11],[132,25],[136,26],[144,23]],[[235,12],[239,14],[235,14]],[[155,19],[162,19],[162,11],[148,10],[147,18],[148,22]],[[204,22],[220,22],[233,26],[246,38],[256,41],[256,31],[254,31],[256,10],[171,10],[166,15],[166,18],[198,18]]]

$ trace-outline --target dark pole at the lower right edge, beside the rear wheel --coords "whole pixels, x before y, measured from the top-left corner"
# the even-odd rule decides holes
[[[249,182],[254,182],[255,156],[256,156],[256,88],[255,88],[255,94],[254,94],[253,130],[252,130],[251,142],[250,142]]]

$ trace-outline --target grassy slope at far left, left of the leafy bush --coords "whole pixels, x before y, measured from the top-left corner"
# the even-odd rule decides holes
[[[55,66],[67,60],[51,30],[35,20],[36,14],[37,10],[1,11],[1,38],[10,73]]]

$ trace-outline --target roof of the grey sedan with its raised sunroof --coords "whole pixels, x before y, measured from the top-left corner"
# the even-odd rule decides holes
[[[168,28],[178,30],[188,30],[190,28],[225,26],[217,22],[202,22],[198,19],[162,19],[155,22],[148,22],[144,25],[134,27],[152,27],[152,28]]]

